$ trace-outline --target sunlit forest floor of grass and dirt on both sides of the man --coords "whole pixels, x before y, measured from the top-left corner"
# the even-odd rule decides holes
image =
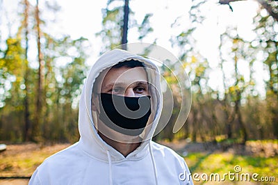
[[[233,172],[235,166],[240,166],[241,172],[258,173],[260,177],[275,177],[278,184],[278,145],[277,140],[270,142],[254,142],[247,145],[218,145],[215,143],[187,143],[186,140],[175,142],[158,142],[171,147],[181,154],[188,163],[191,173]],[[38,145],[23,143],[7,145],[7,149],[0,153],[0,185],[28,184],[35,168],[44,159],[65,147],[69,143],[53,145]],[[12,178],[11,178],[12,177]],[[201,180],[195,184],[215,184]],[[242,184],[258,184],[257,182],[242,182]],[[221,184],[240,184],[228,179]],[[259,184],[262,184],[261,182]]]

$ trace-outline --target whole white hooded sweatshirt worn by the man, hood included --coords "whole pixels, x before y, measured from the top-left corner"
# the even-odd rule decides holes
[[[131,59],[143,62],[155,71],[148,74],[148,78],[159,95],[152,95],[152,105],[156,105],[152,107],[154,122],[145,134],[152,138],[162,109],[158,67],[146,58],[120,49],[108,51],[92,66],[83,86],[79,104],[79,142],[45,159],[29,184],[193,184],[185,161],[170,148],[145,139],[124,157],[97,134],[90,111],[93,83],[106,68]]]

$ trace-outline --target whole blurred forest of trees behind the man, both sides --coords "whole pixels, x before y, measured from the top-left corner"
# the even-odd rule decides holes
[[[177,134],[172,133],[179,113],[179,106],[175,106],[177,110],[174,109],[169,124],[156,140],[188,138],[194,142],[245,143],[277,139],[278,1],[256,2],[259,7],[253,22],[256,37],[245,40],[238,35],[236,27],[225,28],[220,35],[215,68],[195,48],[195,31],[206,19],[203,10],[208,1],[192,1],[189,11],[192,24],[169,37],[169,42],[188,72],[193,104],[186,124]],[[5,19],[9,15],[4,15],[1,3],[1,19]],[[215,3],[231,11],[238,2]],[[20,19],[17,33],[3,38],[0,30],[0,140],[74,143],[79,139],[79,96],[90,69],[85,63],[90,43],[86,38],[48,33],[49,22],[54,22],[59,11],[58,1],[21,0],[17,6],[17,19]],[[138,22],[133,7],[124,7],[124,0],[108,0],[102,10],[102,29],[97,33],[102,40],[101,53],[126,42],[128,29],[136,29],[138,42],[154,30],[149,22],[152,14]],[[129,10],[128,26],[124,22],[124,10]],[[47,17],[49,14],[52,16]],[[13,22],[8,26],[14,26]],[[179,26],[179,17],[173,20],[172,26]],[[156,44],[156,40],[152,42]],[[34,56],[35,61],[31,62]],[[263,84],[257,83],[258,67],[263,68]],[[217,87],[209,83],[210,74],[215,70],[221,74],[218,78],[221,85]],[[177,86],[169,72],[162,72],[173,88]],[[174,101],[178,104],[179,95],[175,95]]]

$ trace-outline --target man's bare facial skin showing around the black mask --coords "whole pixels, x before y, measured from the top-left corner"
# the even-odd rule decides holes
[[[102,80],[103,79],[103,80]],[[140,97],[149,95],[149,84],[147,83],[147,74],[143,67],[120,67],[104,70],[99,75],[96,83],[97,94],[110,93],[113,95],[122,95],[126,97]],[[99,111],[99,98],[98,95],[92,96],[92,111]],[[105,124],[100,124],[99,115],[97,115],[97,129],[107,134],[112,138],[121,138],[122,140],[130,140],[134,136],[127,136],[113,131]],[[108,137],[109,137],[108,136]]]

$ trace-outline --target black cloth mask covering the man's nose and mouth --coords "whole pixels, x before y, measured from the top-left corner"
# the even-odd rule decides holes
[[[151,97],[124,97],[100,93],[99,119],[122,134],[138,136],[151,115]]]

